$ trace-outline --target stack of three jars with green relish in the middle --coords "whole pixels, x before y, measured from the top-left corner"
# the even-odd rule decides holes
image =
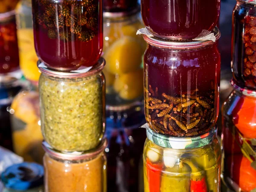
[[[106,192],[102,1],[32,0],[46,192]]]

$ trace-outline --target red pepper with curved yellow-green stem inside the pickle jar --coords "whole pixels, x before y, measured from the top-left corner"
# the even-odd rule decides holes
[[[205,175],[202,173],[201,169],[188,159],[183,159],[180,163],[186,163],[191,168],[190,192],[207,192]]]

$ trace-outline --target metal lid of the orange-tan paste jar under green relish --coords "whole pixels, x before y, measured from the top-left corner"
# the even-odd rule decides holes
[[[89,151],[82,152],[82,153],[76,152],[75,154],[75,152],[56,151],[55,149],[50,148],[50,145],[46,141],[42,142],[42,147],[44,151],[47,154],[51,155],[52,157],[55,157],[61,160],[74,160],[74,161],[96,157],[98,154],[102,153],[102,151],[104,151],[107,146],[108,146],[108,140],[107,138],[103,138],[101,143],[96,148]]]

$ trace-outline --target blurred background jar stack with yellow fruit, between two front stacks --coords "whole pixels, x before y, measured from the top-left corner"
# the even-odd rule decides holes
[[[108,192],[139,191],[145,130],[143,53],[137,0],[103,0]]]

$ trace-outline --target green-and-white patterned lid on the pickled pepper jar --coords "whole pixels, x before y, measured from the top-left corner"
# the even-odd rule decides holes
[[[161,147],[174,149],[203,147],[204,145],[212,143],[212,140],[216,134],[217,127],[213,128],[212,131],[197,137],[169,137],[157,134],[150,128],[147,129],[147,137],[153,143]]]

